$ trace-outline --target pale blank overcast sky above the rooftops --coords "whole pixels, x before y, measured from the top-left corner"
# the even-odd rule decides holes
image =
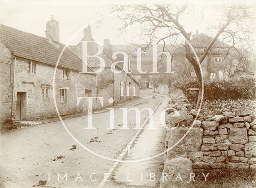
[[[0,23],[45,37],[46,22],[50,20],[51,15],[54,15],[55,20],[60,22],[60,42],[66,43],[78,29],[98,18],[99,14],[108,14],[110,10],[106,5],[117,2],[132,3],[138,1],[108,1],[108,4],[106,4],[106,1],[100,0],[0,0]],[[170,1],[167,2],[170,3]],[[184,3],[185,1],[179,0],[178,2]],[[213,1],[193,1],[193,5],[201,8],[206,6],[206,2],[209,5]],[[227,3],[227,1],[225,2]],[[214,3],[220,4],[220,1],[214,1]],[[199,33],[203,32],[211,35],[212,33],[209,33],[206,28],[209,24],[213,24],[214,15],[214,12],[208,12],[207,16],[204,17],[205,20],[202,20],[201,12],[197,12],[194,16],[191,16],[191,19],[182,20],[182,23],[187,31],[195,33],[196,29],[198,29]],[[117,29],[122,24],[122,21],[112,20],[112,18],[104,20],[101,25],[98,23],[91,25],[92,37],[96,41],[103,42],[104,38],[109,38],[112,44],[126,44],[130,43],[132,36],[140,31],[139,27],[132,26],[126,35],[117,37]],[[83,33],[81,31],[70,44],[76,45],[82,36]],[[136,42],[141,43],[139,40]]]

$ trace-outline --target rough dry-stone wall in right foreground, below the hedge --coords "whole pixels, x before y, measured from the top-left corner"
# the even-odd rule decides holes
[[[184,96],[172,96],[169,107],[170,116],[175,116],[175,110],[180,116],[166,118],[170,129],[165,134],[165,147],[173,148],[164,155],[165,161],[188,158],[194,171],[256,168],[255,112],[241,107],[234,112],[216,110],[206,121],[203,110],[192,109]]]

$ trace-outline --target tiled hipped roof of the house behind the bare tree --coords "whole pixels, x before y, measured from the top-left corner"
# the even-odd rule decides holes
[[[206,48],[211,41],[212,41],[212,37],[210,37],[204,33],[200,33],[198,36],[196,36],[196,38],[192,39],[190,41],[190,43],[191,43],[192,47],[194,47],[194,48]],[[212,47],[213,48],[226,48],[229,46],[221,41],[216,40]]]

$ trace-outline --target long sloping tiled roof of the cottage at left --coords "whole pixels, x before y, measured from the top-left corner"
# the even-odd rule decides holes
[[[0,24],[0,41],[2,41],[16,57],[56,66],[59,55],[65,45],[59,47],[48,42],[48,39],[31,33],[26,33],[12,27]],[[74,71],[82,71],[82,60],[68,47],[60,58],[58,67]],[[88,69],[95,74],[92,69]]]

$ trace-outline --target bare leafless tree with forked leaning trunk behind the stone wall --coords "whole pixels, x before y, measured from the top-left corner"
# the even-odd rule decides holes
[[[212,26],[211,29],[214,30],[214,37],[208,44],[208,46],[204,49],[204,51],[198,54],[199,63],[201,64],[205,57],[208,55],[211,50],[213,44],[216,40],[222,35],[222,40],[229,40],[233,45],[237,42],[236,39],[239,39],[240,42],[242,40],[242,33],[244,38],[250,37],[248,33],[252,31],[252,12],[255,11],[254,6],[252,5],[244,5],[244,4],[234,4],[234,5],[221,5],[221,6],[211,6],[208,7],[218,10],[220,16],[218,20],[214,22],[216,25]],[[207,8],[203,8],[203,12],[205,12]],[[253,9],[253,10],[252,10]],[[198,11],[198,10],[196,10]],[[175,45],[178,43],[178,36],[181,34],[186,41],[183,45],[185,48],[185,57],[188,59],[189,63],[193,66],[198,83],[199,83],[199,92],[198,92],[198,100],[196,106],[198,107],[202,104],[202,74],[200,72],[200,65],[196,61],[196,57],[194,53],[192,53],[192,49],[189,46],[191,31],[188,32],[182,25],[181,19],[184,15],[192,15],[192,9],[184,4],[182,6],[174,6],[174,5],[148,5],[148,4],[130,4],[130,5],[114,5],[112,6],[112,12],[135,12],[135,13],[143,13],[141,15],[138,14],[124,14],[118,15],[118,18],[124,20],[124,25],[120,27],[121,33],[126,30],[129,25],[133,25],[139,23],[142,25],[141,33],[138,33],[140,36],[147,36],[149,41],[148,44],[144,45],[144,51],[152,47],[153,41],[156,40],[156,44],[163,43],[163,51],[168,51],[166,47],[166,41],[172,41]],[[192,16],[191,16],[192,18]],[[163,20],[164,22],[160,21]],[[170,26],[171,24],[171,26]],[[157,31],[165,31],[165,35],[158,37]],[[162,57],[161,57],[162,60]],[[206,90],[204,86],[204,91]]]

